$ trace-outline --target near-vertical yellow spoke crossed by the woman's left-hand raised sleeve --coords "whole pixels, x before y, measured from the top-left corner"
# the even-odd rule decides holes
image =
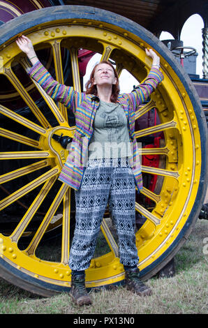
[[[54,66],[56,71],[56,80],[64,84],[64,75],[63,75],[63,68],[62,68],[62,61],[61,61],[61,40],[54,40],[50,42],[52,45],[53,55],[54,55]],[[59,110],[63,114],[64,118],[68,119],[67,109],[66,107],[59,103]]]

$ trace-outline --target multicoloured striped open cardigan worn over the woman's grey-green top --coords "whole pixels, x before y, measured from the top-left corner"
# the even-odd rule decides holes
[[[68,110],[72,110],[75,114],[76,130],[68,158],[59,175],[59,180],[78,190],[82,182],[85,163],[87,163],[89,140],[94,131],[93,122],[100,100],[97,96],[77,92],[73,87],[59,84],[40,61],[32,66],[28,73],[43,87],[50,97],[63,103]],[[135,139],[135,110],[141,103],[147,100],[151,92],[156,89],[158,83],[162,80],[163,74],[161,71],[152,67],[142,84],[136,87],[130,94],[120,94],[117,100],[124,108],[128,121],[129,137],[133,146],[133,156],[130,158],[130,163],[138,191],[142,189],[142,172],[138,145]]]

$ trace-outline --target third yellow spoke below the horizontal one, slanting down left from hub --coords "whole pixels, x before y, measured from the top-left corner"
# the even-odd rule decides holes
[[[38,210],[38,208],[40,207],[40,204],[42,204],[43,200],[47,196],[47,193],[50,191],[50,188],[52,188],[56,179],[57,179],[57,177],[52,177],[47,182],[45,182],[45,184],[43,185],[43,188],[40,190],[40,193],[38,193],[34,202],[32,202],[32,204],[29,207],[29,209],[27,210],[26,214],[24,214],[20,223],[17,225],[14,232],[10,235],[10,239],[12,241],[17,242],[18,239],[20,239],[24,230],[27,228],[27,225],[29,225],[29,222],[34,217],[34,214],[36,214],[36,211]]]

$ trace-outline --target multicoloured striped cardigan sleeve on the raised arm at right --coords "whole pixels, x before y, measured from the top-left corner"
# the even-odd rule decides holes
[[[162,82],[163,78],[163,73],[160,70],[154,67],[151,68],[144,82],[135,87],[135,90],[131,94],[128,94],[128,98],[130,98],[133,105],[133,110],[136,110],[138,105],[148,99],[157,85]]]

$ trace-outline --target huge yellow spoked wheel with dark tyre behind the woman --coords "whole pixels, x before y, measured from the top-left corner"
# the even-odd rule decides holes
[[[44,296],[70,290],[68,257],[75,207],[73,191],[57,180],[68,151],[53,136],[72,137],[73,118],[27,77],[24,70],[29,63],[15,44],[21,33],[31,38],[40,60],[59,82],[66,82],[63,67],[69,67],[77,91],[80,48],[101,53],[103,59],[115,62],[119,74],[126,68],[138,82],[151,67],[144,48],[153,47],[160,55],[165,78],[135,113],[140,124],[135,135],[147,146],[142,154],[158,156],[159,163],[142,166],[144,188],[135,204],[138,216],[146,218],[136,231],[141,276],[153,276],[187,239],[202,206],[207,181],[205,117],[191,81],[165,45],[124,17],[84,6],[37,10],[1,27],[0,275]],[[142,125],[153,110],[156,125]],[[154,137],[159,145],[149,147]],[[156,184],[150,188],[148,177],[155,176]],[[60,244],[52,240],[50,252],[45,253],[45,236],[57,226],[62,227]],[[98,241],[104,253],[97,249],[91,260],[86,272],[89,288],[124,281],[113,231],[104,218]]]

